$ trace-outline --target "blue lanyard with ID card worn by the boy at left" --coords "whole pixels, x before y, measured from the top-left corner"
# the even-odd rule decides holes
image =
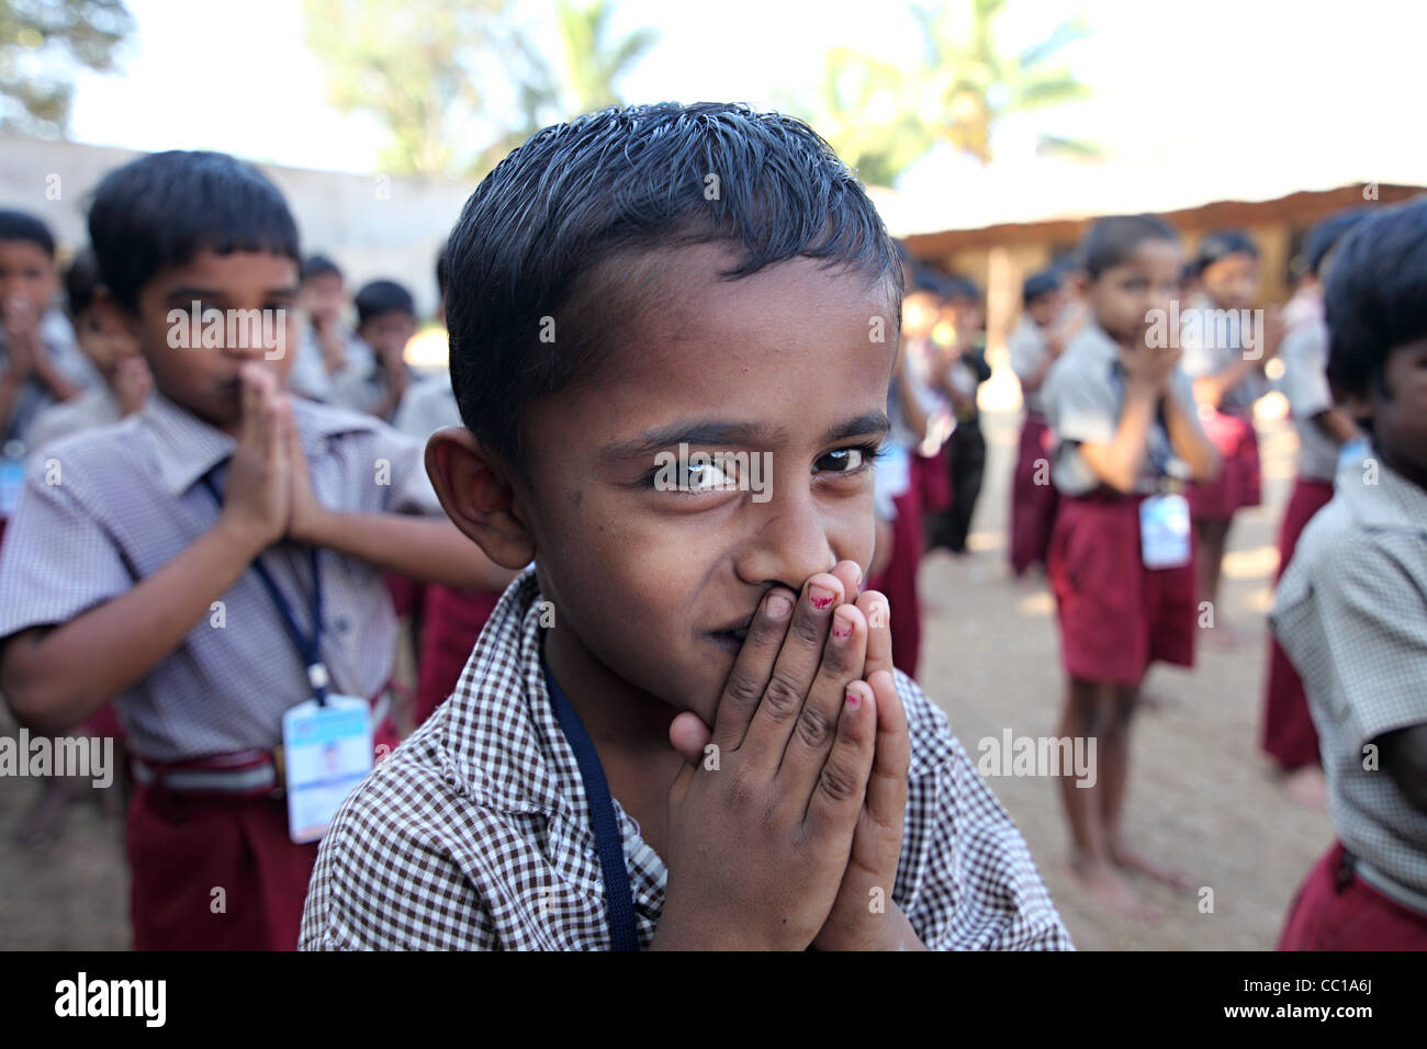
[[[223,495],[210,474],[204,488],[223,507]],[[330,678],[323,662],[323,574],[317,548],[308,548],[313,569],[313,631],[304,634],[277,579],[260,559],[251,568],[277,608],[283,627],[307,667],[313,698],[283,715],[283,766],[287,792],[287,832],[295,843],[313,842],[327,833],[351,789],[372,768],[371,706],[365,699],[328,692]]]

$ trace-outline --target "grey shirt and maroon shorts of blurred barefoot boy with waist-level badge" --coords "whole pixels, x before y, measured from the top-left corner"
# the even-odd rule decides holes
[[[1194,420],[1193,387],[1182,370],[1174,370],[1170,388]],[[1050,478],[1060,492],[1046,574],[1056,595],[1066,674],[1137,685],[1150,662],[1193,667],[1197,609],[1193,544],[1173,568],[1146,568],[1142,552],[1142,504],[1169,485],[1174,458],[1163,412],[1150,425],[1149,454],[1130,494],[1102,484],[1080,452],[1086,441],[1114,440],[1124,394],[1119,347],[1097,324],[1086,324],[1045,384],[1046,420],[1055,434]]]

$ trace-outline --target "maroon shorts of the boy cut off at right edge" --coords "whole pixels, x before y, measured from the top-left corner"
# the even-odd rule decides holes
[[[1427,915],[1357,878],[1343,878],[1334,842],[1309,872],[1279,936],[1279,951],[1427,951]]]

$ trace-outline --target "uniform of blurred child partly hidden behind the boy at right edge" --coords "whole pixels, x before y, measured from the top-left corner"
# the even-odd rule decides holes
[[[1314,415],[1333,407],[1326,374],[1329,328],[1321,314],[1296,325],[1284,337],[1279,357],[1284,364],[1283,392],[1299,434],[1299,475],[1279,528],[1276,582],[1289,568],[1303,528],[1333,498],[1333,474],[1339,460],[1337,442],[1313,421]],[[1319,735],[1303,682],[1271,634],[1260,745],[1283,769],[1319,764]]]

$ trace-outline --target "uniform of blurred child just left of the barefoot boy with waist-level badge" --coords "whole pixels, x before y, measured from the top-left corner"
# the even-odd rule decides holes
[[[1010,334],[1010,370],[1025,382],[1036,374],[1050,354],[1040,325],[1022,317]],[[1010,571],[1023,575],[1033,564],[1045,564],[1050,529],[1056,522],[1060,494],[1050,482],[1050,427],[1040,390],[1022,388],[1026,420],[1020,424],[1016,471],[1010,481]]]

